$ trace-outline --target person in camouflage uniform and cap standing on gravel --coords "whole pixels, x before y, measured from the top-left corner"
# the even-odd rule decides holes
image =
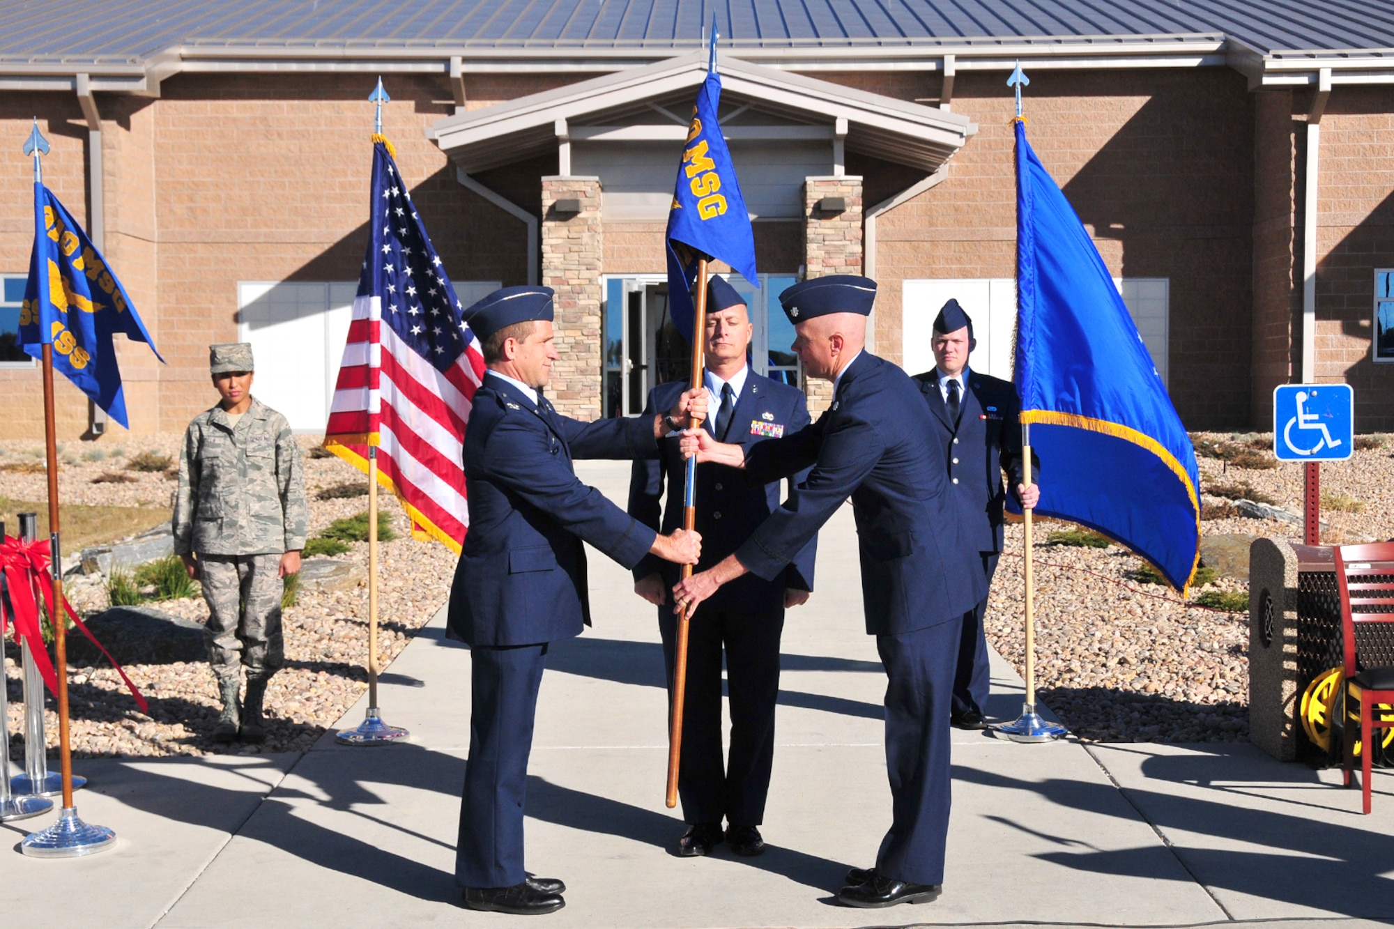
[[[305,547],[305,478],[286,417],[248,392],[251,345],[209,346],[209,367],[222,402],[184,434],[174,552],[208,601],[204,636],[223,699],[213,739],[262,742],[266,682],[284,663],[282,577],[300,571]]]

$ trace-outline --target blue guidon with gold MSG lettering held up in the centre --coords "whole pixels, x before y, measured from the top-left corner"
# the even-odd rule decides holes
[[[711,66],[697,91],[683,159],[677,166],[673,205],[668,212],[668,305],[673,325],[689,342],[696,317],[693,286],[701,258],[725,261],[753,286],[760,286],[750,213],[717,120],[721,75],[715,61],[717,35],[712,31]]]

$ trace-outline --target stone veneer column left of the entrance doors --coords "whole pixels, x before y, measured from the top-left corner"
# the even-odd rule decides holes
[[[558,213],[556,201],[580,201]],[[601,181],[542,179],[542,285],[556,290],[556,350],[546,395],[558,411],[580,420],[601,416]]]

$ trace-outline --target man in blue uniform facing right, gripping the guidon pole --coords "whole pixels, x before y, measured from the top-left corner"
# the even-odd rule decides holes
[[[471,909],[552,912],[566,887],[523,869],[523,808],[548,643],[590,624],[581,541],[633,568],[645,555],[696,564],[701,537],[659,536],[577,480],[572,459],[652,458],[666,430],[658,416],[581,423],[542,396],[559,357],[551,289],[495,290],[464,319],[489,370],[464,435],[470,531],[449,607],[449,629],[470,644],[473,667],[456,879]],[[668,413],[705,407],[705,391],[693,391]]]

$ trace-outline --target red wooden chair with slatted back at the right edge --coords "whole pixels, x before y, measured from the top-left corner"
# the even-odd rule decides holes
[[[1355,767],[1355,739],[1361,739],[1361,799],[1370,812],[1370,757],[1374,732],[1394,728],[1394,713],[1376,704],[1394,706],[1394,541],[1373,545],[1340,545],[1335,555],[1335,583],[1341,593],[1341,640],[1345,651],[1345,706],[1361,704],[1356,732],[1345,711],[1345,785]]]

